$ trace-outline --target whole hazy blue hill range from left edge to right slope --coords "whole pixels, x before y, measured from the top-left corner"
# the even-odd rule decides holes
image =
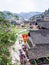
[[[39,15],[41,12],[21,12],[21,13],[12,13],[10,11],[0,11],[0,17],[4,19],[25,19],[28,20],[32,16]]]

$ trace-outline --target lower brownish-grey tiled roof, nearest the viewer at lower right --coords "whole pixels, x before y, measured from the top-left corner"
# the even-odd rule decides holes
[[[49,54],[49,45],[37,45],[35,48],[28,50],[28,56],[30,59],[47,57]]]

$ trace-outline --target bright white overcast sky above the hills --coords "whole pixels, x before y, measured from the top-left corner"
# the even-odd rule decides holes
[[[0,0],[0,11],[44,12],[49,8],[49,0]]]

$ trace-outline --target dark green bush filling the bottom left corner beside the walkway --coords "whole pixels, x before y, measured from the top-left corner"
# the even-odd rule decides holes
[[[0,65],[7,65],[9,63],[9,55],[7,46],[0,44]]]

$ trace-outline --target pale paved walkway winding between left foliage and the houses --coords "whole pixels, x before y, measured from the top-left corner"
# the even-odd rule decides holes
[[[12,64],[16,63],[16,60],[18,60],[20,62],[19,49],[22,49],[22,48],[21,48],[21,44],[19,44],[19,40],[20,40],[20,38],[22,39],[22,37],[21,37],[22,34],[20,34],[20,33],[24,32],[24,31],[26,31],[26,29],[18,32],[18,34],[17,34],[18,37],[17,37],[15,44],[9,48],[10,55],[12,58]]]

